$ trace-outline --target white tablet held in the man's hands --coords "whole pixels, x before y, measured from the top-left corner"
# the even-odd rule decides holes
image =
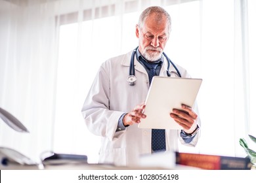
[[[181,105],[192,107],[196,101],[201,78],[171,78],[154,76],[146,97],[144,114],[140,119],[140,128],[150,129],[182,129],[171,118],[173,108],[181,109]]]

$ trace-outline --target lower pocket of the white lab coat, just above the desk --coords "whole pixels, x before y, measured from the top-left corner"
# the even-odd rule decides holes
[[[113,148],[111,150],[101,150],[98,159],[99,163],[114,163],[116,166],[126,165],[125,148]]]

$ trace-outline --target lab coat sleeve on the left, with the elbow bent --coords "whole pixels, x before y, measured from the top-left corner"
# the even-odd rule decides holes
[[[110,76],[104,64],[100,67],[82,108],[89,131],[114,141],[124,131],[116,132],[121,111],[110,110]]]

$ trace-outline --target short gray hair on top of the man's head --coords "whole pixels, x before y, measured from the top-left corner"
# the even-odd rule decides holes
[[[167,18],[167,26],[168,26],[168,27],[167,27],[167,28],[168,28],[168,34],[170,34],[170,33],[171,33],[171,16],[170,16],[170,14],[169,14],[165,9],[163,9],[163,8],[161,8],[161,7],[158,7],[158,6],[148,7],[148,8],[146,8],[146,9],[140,14],[139,22],[138,22],[139,28],[142,29],[146,18],[147,18],[150,14],[152,14],[152,13],[158,14],[158,16],[156,17],[156,21],[157,21],[157,22],[163,21],[162,15],[166,16],[166,18]]]

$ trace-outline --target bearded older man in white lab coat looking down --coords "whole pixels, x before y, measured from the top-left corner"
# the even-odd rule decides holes
[[[152,129],[140,129],[144,101],[150,86],[150,67],[154,65],[154,75],[190,77],[185,69],[170,65],[163,56],[163,49],[171,33],[171,18],[161,7],[148,7],[139,17],[136,36],[139,48],[110,58],[100,66],[91,86],[82,114],[85,124],[95,135],[102,137],[99,163],[114,163],[117,166],[134,166],[142,154],[151,154]],[[132,58],[132,54],[134,58]],[[134,59],[136,83],[129,84],[131,59]],[[131,73],[130,73],[131,75]],[[129,79],[128,79],[129,80]],[[164,90],[164,88],[163,88]],[[175,90],[175,88],[173,88]],[[183,110],[174,109],[170,118],[180,124],[182,130],[163,130],[164,148],[160,150],[178,151],[178,141],[187,146],[196,146],[200,137],[200,120],[196,107],[182,105]],[[157,114],[156,114],[157,115]]]

